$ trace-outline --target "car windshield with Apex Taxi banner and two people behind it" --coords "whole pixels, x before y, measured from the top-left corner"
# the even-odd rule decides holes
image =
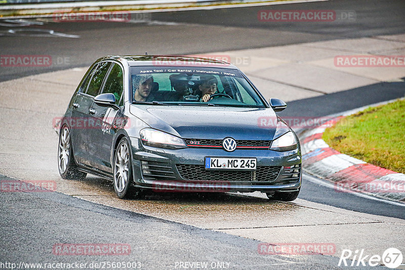
[[[131,92],[137,104],[265,107],[236,69],[131,67]]]

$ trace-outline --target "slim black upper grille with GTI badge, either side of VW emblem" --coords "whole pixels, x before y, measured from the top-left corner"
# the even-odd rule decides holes
[[[188,147],[222,147],[223,140],[208,140],[208,139],[184,139]],[[255,148],[264,147],[268,149],[271,145],[271,141],[260,140],[236,140],[236,147],[240,148]]]

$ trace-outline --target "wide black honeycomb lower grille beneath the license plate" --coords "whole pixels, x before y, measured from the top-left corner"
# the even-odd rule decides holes
[[[271,182],[280,166],[258,166],[256,171],[206,170],[204,165],[176,164],[180,176],[193,181]]]

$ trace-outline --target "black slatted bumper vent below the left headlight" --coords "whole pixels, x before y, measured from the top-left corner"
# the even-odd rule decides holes
[[[141,160],[141,171],[145,179],[174,179],[173,167],[170,163]]]

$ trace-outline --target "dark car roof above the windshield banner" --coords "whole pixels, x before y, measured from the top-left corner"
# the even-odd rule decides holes
[[[100,58],[99,61],[107,59],[114,59],[121,62],[123,59],[125,59],[128,61],[130,66],[184,66],[238,69],[234,65],[222,60],[192,56],[121,55],[103,57]]]

